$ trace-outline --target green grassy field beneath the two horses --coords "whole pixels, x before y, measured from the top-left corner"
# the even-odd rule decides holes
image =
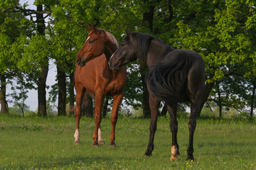
[[[109,147],[110,118],[102,120],[107,145],[92,147],[94,120],[82,118],[81,145],[73,145],[75,118],[0,115],[0,169],[256,169],[256,122],[198,119],[195,161],[186,160],[188,119],[178,119],[178,161],[171,157],[169,118],[159,118],[153,156],[144,152],[149,119],[119,118],[117,148]]]

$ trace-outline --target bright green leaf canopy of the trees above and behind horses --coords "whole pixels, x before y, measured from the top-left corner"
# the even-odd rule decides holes
[[[41,66],[48,65],[49,60],[58,62],[66,74],[71,74],[75,56],[87,38],[87,26],[93,24],[109,31],[117,42],[122,41],[127,28],[156,35],[177,49],[196,50],[206,63],[206,83],[221,85],[225,106],[250,106],[251,86],[256,76],[255,1],[36,0],[35,5],[43,4],[44,10],[50,12],[45,36],[37,35],[36,23],[25,17],[27,4],[18,3],[16,0],[0,3],[1,74],[18,68],[34,73],[33,79],[37,79]],[[149,23],[143,20],[151,6],[154,18],[149,28]],[[124,101],[140,107],[139,69],[136,63],[127,65],[127,69]],[[215,98],[215,86],[210,95],[209,99]]]

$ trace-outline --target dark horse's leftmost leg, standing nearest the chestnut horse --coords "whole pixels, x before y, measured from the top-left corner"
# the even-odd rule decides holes
[[[151,111],[151,122],[150,122],[150,135],[149,135],[149,144],[146,149],[146,157],[152,155],[152,151],[154,149],[154,134],[156,132],[156,122],[157,122],[157,115],[159,113],[159,105],[160,101],[149,92],[149,107]]]

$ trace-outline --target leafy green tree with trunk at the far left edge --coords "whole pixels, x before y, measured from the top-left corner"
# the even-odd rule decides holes
[[[18,13],[14,6],[18,6],[18,1],[1,1],[0,3],[0,101],[1,113],[4,114],[9,113],[6,101],[7,82],[12,79],[13,72],[20,72],[16,69],[17,60],[12,54],[13,45],[21,34],[31,34],[30,21],[23,13]]]

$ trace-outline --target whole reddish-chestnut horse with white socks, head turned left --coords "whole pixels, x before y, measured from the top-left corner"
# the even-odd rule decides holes
[[[81,117],[82,99],[85,91],[95,94],[95,131],[92,136],[92,146],[98,147],[101,139],[100,122],[102,120],[102,105],[105,96],[113,96],[110,135],[110,146],[115,147],[114,131],[117,123],[117,113],[122,98],[124,96],[124,86],[127,80],[126,67],[112,71],[107,64],[111,55],[117,50],[117,40],[111,33],[102,29],[89,27],[88,38],[76,57],[75,67],[75,145],[80,143],[79,124]],[[98,134],[99,133],[99,134]]]

